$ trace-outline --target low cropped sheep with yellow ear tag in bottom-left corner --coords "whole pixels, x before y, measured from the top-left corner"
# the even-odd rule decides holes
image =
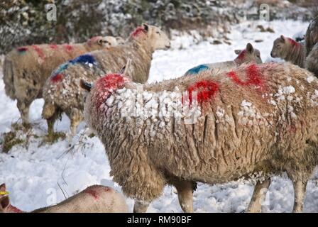
[[[6,191],[6,185],[0,185]],[[124,196],[111,187],[93,185],[59,204],[36,209],[31,213],[127,213]],[[0,213],[24,213],[10,204],[9,195],[0,194]]]

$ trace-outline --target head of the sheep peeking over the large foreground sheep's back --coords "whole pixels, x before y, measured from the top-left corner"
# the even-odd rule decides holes
[[[252,61],[256,62],[257,64],[262,63],[261,52],[257,49],[254,49],[251,43],[246,45],[245,50],[234,50],[234,52],[236,55],[238,55],[234,61],[239,65],[241,65],[243,62]]]

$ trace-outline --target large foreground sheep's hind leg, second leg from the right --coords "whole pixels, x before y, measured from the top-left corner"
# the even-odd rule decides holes
[[[268,187],[270,187],[270,179],[265,179],[263,182],[256,183],[252,199],[250,201],[250,204],[248,204],[248,213],[261,213],[262,204],[265,200]]]

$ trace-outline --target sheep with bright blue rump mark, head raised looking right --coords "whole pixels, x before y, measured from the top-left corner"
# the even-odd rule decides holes
[[[125,45],[109,50],[90,52],[61,65],[48,78],[43,88],[45,104],[42,116],[48,122],[48,135],[53,135],[54,122],[62,112],[70,118],[69,139],[75,135],[83,118],[84,99],[79,80],[93,82],[107,72],[121,69],[128,58],[133,59],[129,76],[134,82],[148,79],[152,55],[155,50],[170,48],[168,36],[155,26],[143,23],[131,33]]]

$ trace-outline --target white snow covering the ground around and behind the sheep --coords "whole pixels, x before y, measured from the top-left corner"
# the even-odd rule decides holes
[[[261,33],[258,24],[270,26],[275,33]],[[227,35],[231,45],[212,45],[208,41],[195,44],[190,36],[175,37],[172,49],[155,52],[150,70],[149,82],[160,81],[182,75],[198,64],[233,60],[235,49],[241,49],[250,42],[261,50],[263,61],[269,60],[273,40],[283,34],[292,37],[305,31],[308,23],[300,21],[257,21],[234,26]],[[263,40],[255,43],[254,40]],[[182,47],[182,48],[181,48]],[[2,78],[2,75],[0,75]],[[11,101],[4,93],[0,80],[0,132],[10,131],[11,123],[19,118],[16,101]],[[16,145],[8,154],[0,151],[0,183],[5,182],[10,192],[11,203],[25,211],[48,206],[65,199],[92,184],[104,184],[121,188],[109,177],[109,163],[104,147],[98,138],[82,135],[84,123],[73,139],[71,149],[66,140],[53,145],[41,144],[46,133],[46,123],[40,118],[43,100],[33,102],[31,120],[33,133],[26,147]],[[67,131],[70,122],[63,116],[55,126],[57,131]],[[317,173],[314,176],[318,176]],[[314,177],[316,178],[316,177]],[[221,185],[199,184],[194,192],[196,212],[241,212],[246,209],[251,198],[253,184],[249,182],[229,182]],[[65,196],[63,195],[65,194]],[[132,211],[133,200],[127,199]],[[290,212],[293,204],[292,184],[286,177],[274,177],[267,195],[265,212]],[[318,211],[318,187],[311,180],[307,186],[305,211]],[[163,196],[150,204],[148,212],[181,212],[177,194],[172,187],[166,187]]]

